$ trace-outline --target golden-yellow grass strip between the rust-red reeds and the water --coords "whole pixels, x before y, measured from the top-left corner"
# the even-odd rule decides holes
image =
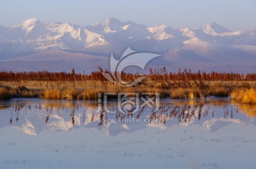
[[[97,99],[97,93],[159,93],[160,97],[171,97],[174,99],[196,99],[207,96],[228,97],[232,95],[242,102],[254,102],[256,82],[181,82],[178,85],[171,81],[170,87],[164,87],[161,82],[155,84],[139,84],[134,87],[121,87],[112,82],[100,81],[75,81],[74,82],[0,82],[0,99],[11,97],[38,97],[44,99]],[[26,87],[25,87],[26,86]],[[249,88],[249,89],[248,89]],[[246,92],[250,91],[250,92]],[[232,94],[231,94],[232,93]],[[240,93],[240,94],[239,94]],[[246,95],[244,96],[244,93]],[[114,96],[113,96],[114,97]],[[242,98],[242,99],[241,99]]]

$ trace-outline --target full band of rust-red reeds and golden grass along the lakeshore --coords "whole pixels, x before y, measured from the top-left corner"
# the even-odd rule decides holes
[[[91,74],[67,72],[0,72],[0,99],[41,97],[44,99],[97,99],[98,93],[157,92],[161,97],[196,99],[228,97],[255,103],[256,74],[149,71],[134,87],[122,87],[102,76],[102,69]],[[107,70],[105,71],[107,72]],[[140,75],[121,73],[132,82]],[[113,96],[114,97],[114,96]]]

